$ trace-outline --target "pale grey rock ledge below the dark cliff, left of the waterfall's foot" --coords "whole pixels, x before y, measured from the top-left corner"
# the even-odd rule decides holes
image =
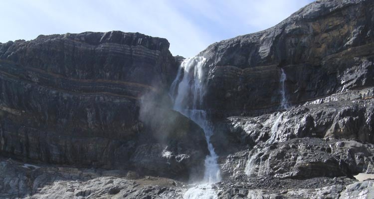
[[[35,166],[1,160],[0,198],[175,198],[182,183],[119,170]]]

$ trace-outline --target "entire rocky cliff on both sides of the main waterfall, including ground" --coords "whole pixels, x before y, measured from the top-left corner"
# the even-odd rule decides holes
[[[166,39],[140,33],[0,44],[0,197],[373,198],[373,13],[316,0],[211,44],[187,78]],[[197,86],[213,150],[171,110],[171,85]],[[222,181],[187,184],[210,151]]]

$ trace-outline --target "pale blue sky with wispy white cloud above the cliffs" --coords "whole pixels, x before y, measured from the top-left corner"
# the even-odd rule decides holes
[[[173,55],[271,27],[313,0],[1,0],[0,42],[39,34],[141,32]]]

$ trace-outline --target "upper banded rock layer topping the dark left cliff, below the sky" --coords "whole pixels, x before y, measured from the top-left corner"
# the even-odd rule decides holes
[[[121,31],[9,41],[0,45],[0,59],[69,78],[146,85],[166,84],[177,71],[166,39]]]

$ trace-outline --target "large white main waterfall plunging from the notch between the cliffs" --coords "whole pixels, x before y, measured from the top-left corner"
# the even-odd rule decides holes
[[[209,155],[205,158],[203,182],[216,183],[221,180],[221,177],[217,164],[218,157],[210,143],[213,134],[212,126],[207,120],[206,111],[201,108],[205,88],[204,64],[204,57],[184,60],[171,85],[170,95],[174,99],[174,110],[184,114],[204,130]]]

